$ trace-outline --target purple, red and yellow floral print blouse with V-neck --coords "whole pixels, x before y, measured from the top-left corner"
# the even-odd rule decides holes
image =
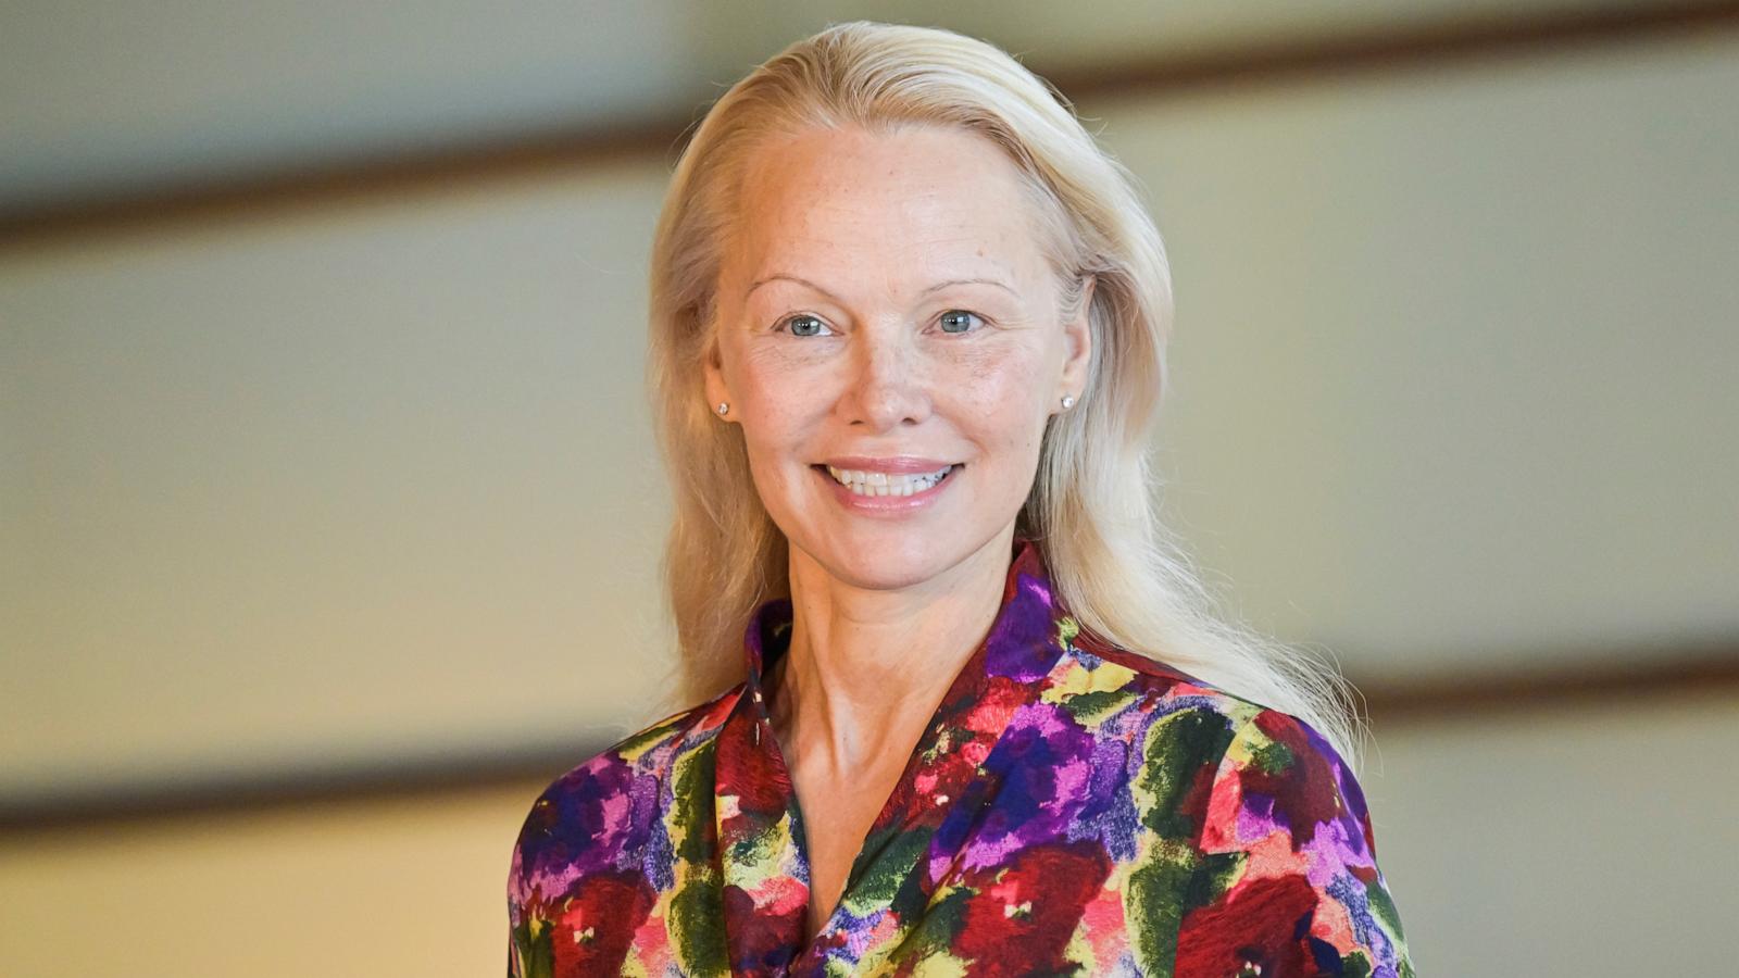
[[[1038,545],[805,940],[762,675],[569,771],[508,881],[508,975],[1414,975],[1353,773],[1311,727],[1083,633]]]

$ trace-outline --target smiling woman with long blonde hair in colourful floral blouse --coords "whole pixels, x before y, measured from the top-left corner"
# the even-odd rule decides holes
[[[510,975],[1410,975],[1330,680],[1149,515],[1169,318],[1007,54],[852,23],[732,87],[652,256],[706,701],[537,799]]]

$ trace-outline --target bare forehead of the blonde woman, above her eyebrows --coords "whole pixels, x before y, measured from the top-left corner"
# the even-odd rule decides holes
[[[783,271],[922,289],[1047,268],[1019,171],[972,132],[810,129],[758,146],[741,191],[725,259],[739,285]]]

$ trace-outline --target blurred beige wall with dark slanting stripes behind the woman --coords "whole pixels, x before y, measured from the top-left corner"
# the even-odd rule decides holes
[[[1421,973],[1722,971],[1739,3],[9,0],[0,973],[501,973],[530,802],[664,710],[670,167],[859,16],[1139,174],[1156,496],[1363,691]]]

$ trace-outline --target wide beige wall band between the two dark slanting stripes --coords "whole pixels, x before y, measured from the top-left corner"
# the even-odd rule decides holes
[[[1160,498],[1243,614],[1383,680],[1739,632],[1736,52],[1083,106],[1176,266]],[[661,186],[0,254],[0,799],[650,719]]]

